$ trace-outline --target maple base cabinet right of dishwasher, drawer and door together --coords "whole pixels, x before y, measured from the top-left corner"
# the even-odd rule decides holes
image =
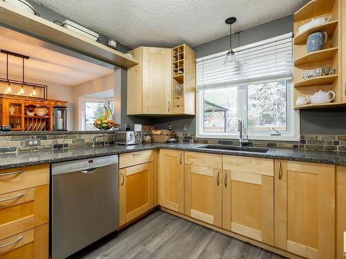
[[[154,207],[154,151],[120,154],[119,225]]]

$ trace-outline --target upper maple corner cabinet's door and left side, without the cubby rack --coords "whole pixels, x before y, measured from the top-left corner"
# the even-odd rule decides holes
[[[127,70],[127,114],[172,113],[170,48],[139,47],[129,53],[138,65]]]

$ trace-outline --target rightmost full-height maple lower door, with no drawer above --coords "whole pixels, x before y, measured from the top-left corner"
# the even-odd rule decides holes
[[[334,258],[334,165],[275,161],[275,246]]]

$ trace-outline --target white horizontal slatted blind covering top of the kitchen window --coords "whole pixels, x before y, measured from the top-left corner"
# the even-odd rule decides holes
[[[226,52],[197,59],[197,90],[291,79],[292,33],[235,48],[238,66],[224,66]]]

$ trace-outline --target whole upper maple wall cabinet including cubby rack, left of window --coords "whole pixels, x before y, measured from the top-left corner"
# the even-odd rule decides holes
[[[139,47],[138,65],[127,70],[127,115],[195,115],[196,55],[175,48]]]

